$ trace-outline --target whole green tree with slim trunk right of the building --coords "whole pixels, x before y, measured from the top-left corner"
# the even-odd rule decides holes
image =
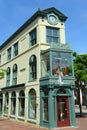
[[[80,107],[80,116],[82,116],[82,104],[80,98],[80,89],[84,87],[87,83],[87,54],[77,55],[76,52],[73,53],[74,57],[74,74],[76,78],[76,87],[78,88],[79,96],[79,107]]]

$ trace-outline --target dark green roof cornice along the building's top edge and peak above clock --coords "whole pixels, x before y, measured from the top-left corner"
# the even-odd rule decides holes
[[[37,17],[46,17],[46,15],[50,12],[56,13],[56,15],[59,17],[61,21],[66,21],[67,17],[62,14],[60,11],[58,11],[56,8],[48,8],[45,10],[40,10],[32,15],[16,32],[14,32],[1,46],[0,50],[2,50],[9,42],[11,42],[21,31],[23,31],[29,24],[31,24]]]

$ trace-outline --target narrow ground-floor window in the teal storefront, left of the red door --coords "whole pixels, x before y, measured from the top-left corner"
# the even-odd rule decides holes
[[[48,121],[48,98],[43,99],[43,120]]]

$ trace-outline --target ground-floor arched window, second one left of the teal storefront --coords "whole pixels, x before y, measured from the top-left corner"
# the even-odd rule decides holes
[[[19,116],[24,116],[25,112],[25,93],[23,90],[19,93]]]

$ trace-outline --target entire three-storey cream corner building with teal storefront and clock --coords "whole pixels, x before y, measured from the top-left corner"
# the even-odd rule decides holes
[[[0,116],[48,128],[76,126],[67,17],[38,10],[0,46]]]

